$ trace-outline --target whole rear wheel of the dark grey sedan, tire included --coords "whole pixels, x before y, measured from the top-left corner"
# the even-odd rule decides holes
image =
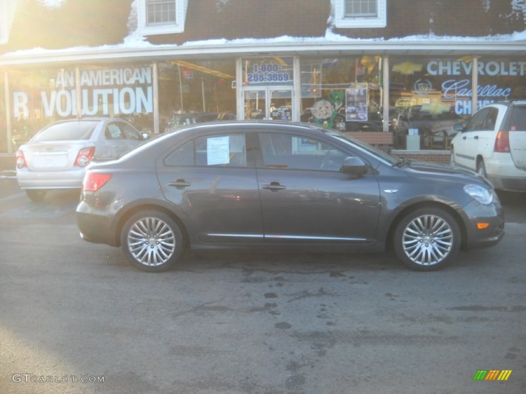
[[[128,261],[147,272],[166,271],[177,263],[184,251],[179,225],[156,210],[131,216],[123,226],[120,243]]]

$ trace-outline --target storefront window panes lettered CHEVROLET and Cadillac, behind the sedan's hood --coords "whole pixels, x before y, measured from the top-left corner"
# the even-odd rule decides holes
[[[389,63],[389,99],[399,113],[393,120],[395,147],[403,148],[408,134],[418,134],[423,148],[436,148],[438,139],[448,149],[453,125],[472,115],[472,57],[390,57]],[[524,97],[526,61],[483,56],[477,63],[478,108]]]

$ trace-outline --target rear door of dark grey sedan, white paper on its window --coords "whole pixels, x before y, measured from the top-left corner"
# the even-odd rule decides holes
[[[157,164],[161,190],[184,211],[199,241],[262,243],[253,152],[242,132],[196,137]]]

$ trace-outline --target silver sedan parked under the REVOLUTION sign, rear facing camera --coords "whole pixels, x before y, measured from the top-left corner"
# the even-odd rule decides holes
[[[86,165],[116,158],[148,138],[123,119],[60,120],[40,130],[16,152],[16,176],[32,201],[50,189],[80,189]]]

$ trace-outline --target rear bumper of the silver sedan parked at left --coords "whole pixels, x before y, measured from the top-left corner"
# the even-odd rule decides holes
[[[85,168],[76,167],[66,171],[16,171],[16,180],[21,189],[80,189]]]

